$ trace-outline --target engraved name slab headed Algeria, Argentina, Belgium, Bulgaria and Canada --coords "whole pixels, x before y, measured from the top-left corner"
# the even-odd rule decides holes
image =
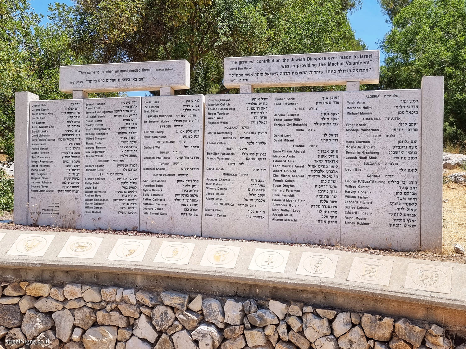
[[[421,90],[343,92],[343,122],[342,242],[419,248]]]

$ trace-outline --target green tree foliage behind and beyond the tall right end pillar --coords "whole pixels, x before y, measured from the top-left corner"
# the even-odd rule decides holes
[[[445,141],[466,139],[466,2],[413,0],[392,22],[378,88],[419,88],[423,76],[445,78]]]

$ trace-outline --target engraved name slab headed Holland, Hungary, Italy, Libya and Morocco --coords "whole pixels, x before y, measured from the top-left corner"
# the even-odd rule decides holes
[[[268,239],[270,94],[206,96],[202,235]]]

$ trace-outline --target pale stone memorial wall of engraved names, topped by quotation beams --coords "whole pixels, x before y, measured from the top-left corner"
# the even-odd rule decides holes
[[[30,101],[27,223],[394,249],[426,246],[424,224],[441,243],[437,174],[421,178],[441,149],[441,127],[422,128],[441,125],[436,78],[360,91],[378,82],[378,51],[224,66],[240,94],[173,95],[189,88],[184,60],[62,67],[66,92],[161,95]],[[336,84],[347,91],[252,93]]]

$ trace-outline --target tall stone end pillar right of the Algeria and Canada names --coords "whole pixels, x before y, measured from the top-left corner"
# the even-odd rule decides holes
[[[443,76],[422,78],[421,248],[442,250]]]

